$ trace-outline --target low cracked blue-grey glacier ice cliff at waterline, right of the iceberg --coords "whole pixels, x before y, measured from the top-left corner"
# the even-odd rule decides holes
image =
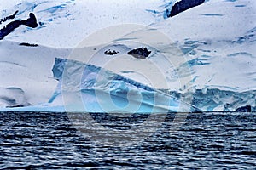
[[[202,111],[239,111],[249,107],[249,111],[256,111],[256,91],[235,92],[231,90],[220,90],[218,88],[196,89],[191,94],[181,94],[177,91],[166,92],[179,99],[186,95],[192,95],[191,104]]]

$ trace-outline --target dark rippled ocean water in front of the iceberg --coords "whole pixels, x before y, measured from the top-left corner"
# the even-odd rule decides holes
[[[170,133],[174,116],[166,116],[160,127],[146,127],[148,132],[152,131],[147,138],[134,144],[113,146],[114,144],[100,144],[100,137],[94,141],[90,136],[81,133],[73,127],[73,121],[66,113],[2,112],[0,168],[256,167],[255,113],[189,114],[179,130]],[[109,129],[125,132],[148,120],[147,115],[133,115],[127,118],[91,114],[90,117],[107,129],[102,128],[99,135],[105,133],[107,136]],[[139,139],[137,134],[130,135]],[[131,136],[129,138],[132,138]],[[109,135],[109,138],[114,137]]]

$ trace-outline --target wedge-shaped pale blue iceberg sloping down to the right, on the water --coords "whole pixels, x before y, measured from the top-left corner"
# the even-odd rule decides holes
[[[165,113],[195,112],[186,104],[160,90],[95,65],[68,59],[55,59],[52,69],[59,80],[49,103],[62,97],[67,111]]]

